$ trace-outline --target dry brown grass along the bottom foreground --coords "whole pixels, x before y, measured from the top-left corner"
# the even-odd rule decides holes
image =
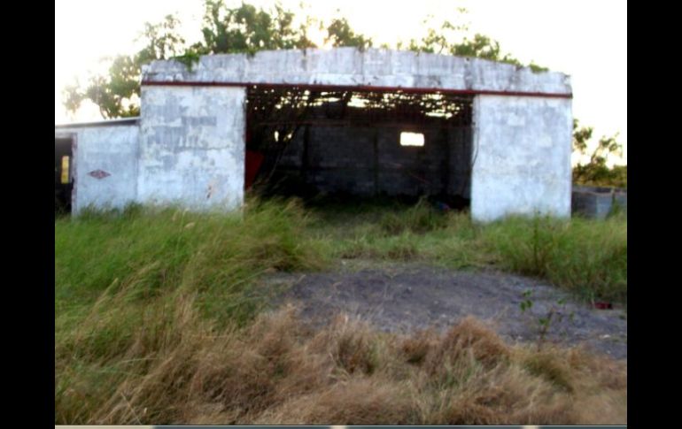
[[[57,424],[627,423],[624,363],[510,347],[472,318],[399,336],[346,316],[314,331],[290,308],[219,330],[190,296],[168,303],[117,354],[58,344]]]

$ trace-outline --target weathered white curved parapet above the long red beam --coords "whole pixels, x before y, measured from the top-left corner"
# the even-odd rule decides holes
[[[143,67],[143,81],[242,82],[443,88],[570,94],[563,73],[533,73],[479,58],[355,48],[267,50],[201,57],[191,71],[177,61]]]

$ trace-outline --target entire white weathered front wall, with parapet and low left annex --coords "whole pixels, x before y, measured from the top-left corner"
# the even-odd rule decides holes
[[[492,61],[409,51],[262,51],[143,67],[144,81],[457,89],[570,96],[570,77]],[[78,211],[90,203],[182,203],[233,209],[244,199],[245,88],[142,87],[138,126],[60,128],[77,134]],[[471,212],[570,216],[570,98],[479,95],[474,106]],[[56,130],[57,134],[57,130]],[[88,172],[111,175],[96,179]]]

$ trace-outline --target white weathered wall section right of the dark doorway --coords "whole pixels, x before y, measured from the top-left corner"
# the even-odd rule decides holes
[[[477,96],[471,215],[570,217],[570,99]]]

